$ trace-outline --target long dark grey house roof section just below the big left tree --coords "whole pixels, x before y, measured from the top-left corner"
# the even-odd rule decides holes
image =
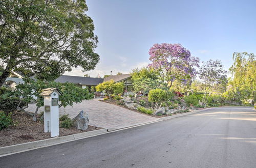
[[[82,77],[82,76],[69,76],[69,75],[61,75],[57,79],[56,82],[65,83],[80,83],[81,85],[88,85],[88,86],[97,86],[99,83],[103,82],[103,78],[96,78],[96,77]]]

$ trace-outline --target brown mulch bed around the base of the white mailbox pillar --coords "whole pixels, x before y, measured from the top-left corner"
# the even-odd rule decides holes
[[[51,138],[50,132],[44,132],[44,123],[39,121],[39,117],[35,122],[33,121],[32,117],[26,113],[15,112],[12,115],[12,120],[13,126],[0,130],[0,147]],[[74,126],[69,129],[59,128],[59,136],[88,132],[98,129],[102,128],[90,125],[86,131],[78,130]]]

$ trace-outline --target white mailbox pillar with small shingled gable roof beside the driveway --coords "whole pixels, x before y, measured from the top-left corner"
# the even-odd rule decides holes
[[[44,96],[44,123],[45,132],[51,132],[51,137],[59,135],[59,95],[57,88],[42,90],[40,96]]]

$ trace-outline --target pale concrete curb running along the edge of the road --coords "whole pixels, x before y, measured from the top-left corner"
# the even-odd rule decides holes
[[[145,123],[140,123],[140,124],[135,124],[135,125],[129,125],[129,126],[121,127],[121,128],[104,128],[104,129],[99,129],[99,130],[95,130],[95,131],[77,133],[77,134],[72,134],[72,135],[67,135],[67,136],[58,136],[58,137],[53,137],[53,138],[49,138],[49,139],[42,139],[40,141],[34,141],[34,142],[28,142],[28,143],[24,143],[24,144],[17,144],[17,145],[1,147],[0,148],[0,157],[11,155],[14,153],[25,152],[25,151],[33,150],[33,149],[37,149],[37,148],[67,143],[67,142],[75,141],[77,139],[97,136],[97,135],[109,133],[112,131],[115,132],[115,131],[119,131],[119,130],[124,130],[124,129],[129,129],[129,128],[133,128],[133,127],[146,125],[146,124],[160,122],[163,120],[168,120],[168,119],[173,119],[173,118],[182,117],[182,116],[186,116],[186,115],[191,115],[191,114],[199,113],[199,112],[207,110],[207,109],[209,109],[209,108],[197,110],[197,111],[191,111],[188,113],[178,114],[178,115],[174,115],[174,116],[163,117],[163,118],[159,118],[155,121],[150,121],[150,122],[145,122]]]

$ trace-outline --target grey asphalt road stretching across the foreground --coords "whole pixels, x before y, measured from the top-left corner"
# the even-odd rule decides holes
[[[256,111],[208,109],[0,157],[0,167],[256,167]]]

